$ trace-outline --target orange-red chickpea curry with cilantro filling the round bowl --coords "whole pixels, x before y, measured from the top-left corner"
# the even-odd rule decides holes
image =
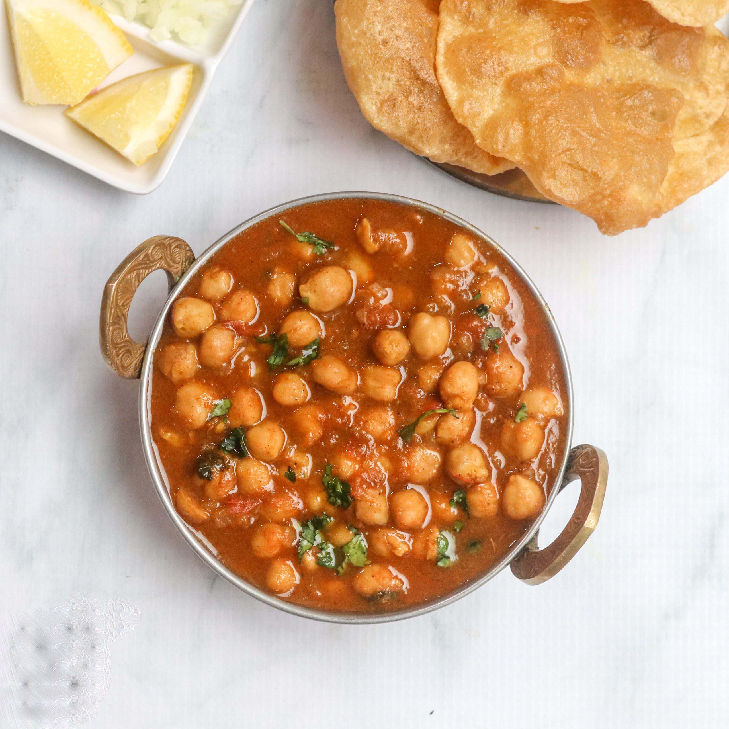
[[[564,370],[501,254],[333,200],[221,249],[171,308],[152,431],[176,510],[263,590],[401,609],[486,572],[564,456]]]

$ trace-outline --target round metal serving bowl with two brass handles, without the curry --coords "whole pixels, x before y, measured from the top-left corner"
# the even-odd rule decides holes
[[[217,555],[213,553],[209,542],[206,544],[203,541],[202,535],[192,528],[192,526],[188,525],[174,508],[170,494],[170,484],[168,483],[159,453],[157,453],[157,448],[152,438],[150,413],[154,353],[160,341],[165,320],[168,317],[171,306],[177,294],[190,281],[190,278],[195,276],[195,273],[206,265],[211,257],[232,238],[248,230],[250,227],[257,225],[262,220],[268,219],[269,217],[278,218],[291,208],[297,208],[308,203],[352,199],[383,200],[390,203],[398,203],[399,205],[409,206],[411,210],[423,211],[443,218],[467,229],[475,238],[482,241],[485,246],[495,249],[500,255],[504,256],[510,265],[512,265],[516,274],[521,277],[523,283],[529,288],[532,295],[534,295],[534,299],[539,303],[545,313],[564,369],[564,380],[570,403],[566,424],[566,445],[564,452],[561,453],[560,467],[554,481],[555,486],[547,494],[545,507],[539,514],[539,517],[531,523],[529,529],[510,547],[510,550],[496,564],[491,566],[488,572],[485,572],[476,580],[461,585],[448,594],[439,596],[437,599],[424,604],[418,604],[397,611],[375,614],[327,612],[292,604],[260,590],[249,582],[246,582],[246,580],[243,580],[243,578],[239,577],[230,569],[227,569],[222,564],[222,561],[217,558]],[[149,340],[147,340],[147,343],[138,343],[132,340],[128,333],[128,312],[139,284],[141,284],[141,281],[149,273],[155,270],[165,270],[167,273],[169,296],[165,305],[161,308],[159,316],[157,316],[154,327],[152,327]],[[206,561],[215,572],[221,577],[225,577],[228,582],[231,582],[254,598],[294,615],[332,623],[380,623],[401,620],[405,617],[414,617],[439,607],[444,607],[467,595],[485,582],[488,582],[488,580],[491,580],[492,577],[507,565],[510,566],[512,573],[520,580],[531,585],[537,585],[540,582],[545,582],[545,580],[548,580],[559,572],[577,553],[597,525],[605,488],[607,486],[607,457],[599,448],[595,448],[592,445],[577,445],[574,448],[572,447],[572,413],[574,411],[572,407],[574,399],[572,379],[569,374],[569,364],[567,362],[564,343],[562,342],[550,309],[547,307],[542,295],[539,294],[537,288],[529,277],[526,276],[526,273],[524,273],[518,263],[497,243],[491,240],[488,235],[477,230],[477,228],[469,225],[469,223],[459,217],[427,203],[411,200],[410,198],[402,198],[397,195],[385,195],[376,192],[335,192],[327,195],[315,195],[310,198],[292,200],[241,223],[241,225],[230,230],[229,233],[226,233],[216,243],[213,243],[197,259],[190,246],[180,238],[175,238],[170,235],[155,235],[133,250],[122,261],[117,270],[114,271],[109,281],[107,281],[101,302],[100,342],[104,359],[106,359],[106,362],[118,375],[123,378],[141,379],[141,387],[139,389],[139,423],[144,457],[152,477],[152,483],[154,483],[157,490],[157,495],[160,497],[165,510],[184,539],[187,540],[187,543],[203,561]],[[561,534],[552,544],[540,549],[537,544],[539,525],[542,523],[561,489],[572,480],[578,478],[582,482],[582,488],[580,491],[580,499],[577,502],[577,507],[575,507],[572,518],[570,518],[569,523],[567,523]]]

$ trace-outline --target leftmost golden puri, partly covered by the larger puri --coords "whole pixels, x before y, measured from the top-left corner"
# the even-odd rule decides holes
[[[365,119],[416,155],[484,174],[512,168],[456,122],[435,77],[437,0],[338,0],[337,44]]]

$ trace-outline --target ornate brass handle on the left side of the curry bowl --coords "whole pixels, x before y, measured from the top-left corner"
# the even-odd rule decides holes
[[[195,254],[181,238],[155,235],[134,249],[106,281],[101,298],[99,343],[106,364],[120,377],[139,378],[147,348],[146,342],[135,342],[127,329],[129,307],[139,284],[161,268],[167,272],[171,290],[194,260]]]

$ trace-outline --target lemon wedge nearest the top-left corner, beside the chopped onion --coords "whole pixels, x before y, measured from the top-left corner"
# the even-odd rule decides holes
[[[26,104],[78,104],[132,47],[88,0],[5,0]]]

